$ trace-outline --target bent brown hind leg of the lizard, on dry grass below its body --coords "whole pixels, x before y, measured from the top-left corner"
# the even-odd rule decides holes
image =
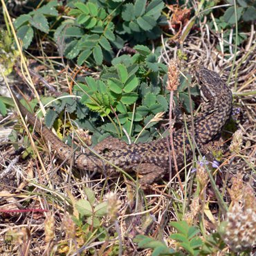
[[[143,176],[140,178],[140,184],[152,184],[165,175],[165,170],[153,163],[140,163],[140,165],[134,167],[134,171]]]

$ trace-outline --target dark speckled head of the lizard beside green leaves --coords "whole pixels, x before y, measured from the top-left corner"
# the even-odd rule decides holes
[[[226,84],[216,72],[209,71],[203,66],[196,67],[195,76],[197,83],[199,84],[201,97],[205,102],[229,91]]]

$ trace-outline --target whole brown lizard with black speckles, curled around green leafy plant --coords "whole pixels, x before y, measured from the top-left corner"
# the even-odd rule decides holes
[[[195,77],[203,100],[202,111],[198,117],[194,118],[194,129],[192,125],[188,125],[187,131],[181,128],[173,133],[176,163],[179,168],[184,165],[184,158],[187,162],[192,160],[190,145],[192,131],[194,131],[194,143],[200,149],[220,134],[232,111],[232,92],[218,73],[203,66],[197,66]],[[93,153],[82,154],[62,142],[50,129],[42,125],[33,113],[30,113],[16,96],[14,98],[22,116],[35,127],[45,142],[50,143],[57,158],[68,164],[72,162],[73,167],[78,170],[111,175],[116,172],[116,165],[125,172],[137,172],[142,176],[140,183],[146,184],[162,179],[170,171],[170,149],[167,138],[131,145],[124,142],[117,143],[116,138],[107,138],[102,145],[109,151],[104,152],[100,150],[102,146],[95,146],[95,151],[98,151],[100,158]]]

